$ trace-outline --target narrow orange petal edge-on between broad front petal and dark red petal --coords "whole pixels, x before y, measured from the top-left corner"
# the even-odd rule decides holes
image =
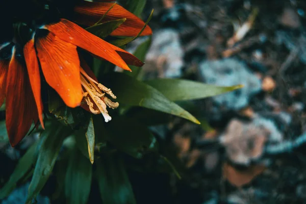
[[[41,100],[41,90],[40,90],[40,74],[39,74],[39,65],[36,56],[36,51],[34,47],[34,39],[31,39],[27,44],[23,47],[23,55],[25,59],[25,63],[27,63],[29,79],[32,87],[32,91],[34,94],[34,98],[36,101],[38,117],[40,120],[40,124],[44,129],[44,124],[42,120],[42,100]],[[37,122],[37,121],[35,121]]]

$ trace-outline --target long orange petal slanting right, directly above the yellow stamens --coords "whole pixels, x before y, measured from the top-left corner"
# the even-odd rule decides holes
[[[93,55],[103,58],[122,69],[130,70],[118,53],[110,46],[110,43],[89,33],[79,25],[69,20],[61,19],[58,23],[48,24],[44,27],[60,39],[86,49]]]

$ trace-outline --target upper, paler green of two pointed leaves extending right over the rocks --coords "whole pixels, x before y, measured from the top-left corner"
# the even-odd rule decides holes
[[[180,79],[156,79],[145,83],[156,88],[172,101],[206,98],[243,87],[242,85],[222,87]]]

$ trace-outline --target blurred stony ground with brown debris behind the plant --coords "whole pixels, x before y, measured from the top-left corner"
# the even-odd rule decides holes
[[[173,117],[151,127],[185,173],[180,180],[174,173],[130,171],[137,203],[306,203],[306,1],[150,0],[144,20],[151,9],[144,80],[244,87],[183,104],[201,126]],[[0,143],[3,178],[31,140],[15,149]],[[20,203],[27,188],[3,203]],[[44,196],[53,191],[51,178],[38,203],[48,203]],[[92,190],[89,203],[96,197]]]

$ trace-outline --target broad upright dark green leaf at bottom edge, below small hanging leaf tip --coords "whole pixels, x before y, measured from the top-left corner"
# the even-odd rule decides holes
[[[68,162],[65,176],[66,203],[86,204],[91,187],[92,165],[77,148],[71,151]]]

